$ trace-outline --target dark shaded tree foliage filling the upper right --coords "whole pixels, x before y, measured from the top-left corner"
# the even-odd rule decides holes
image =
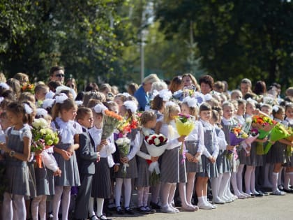
[[[292,83],[293,3],[287,1],[158,1],[156,19],[167,36],[186,38],[188,26],[202,66],[236,87],[243,77]]]

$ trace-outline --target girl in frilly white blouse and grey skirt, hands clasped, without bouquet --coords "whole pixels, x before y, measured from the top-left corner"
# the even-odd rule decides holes
[[[78,135],[82,133],[82,126],[74,122],[76,112],[77,106],[71,98],[67,98],[64,94],[56,97],[51,126],[59,132],[60,140],[54,147],[54,156],[62,175],[55,177],[55,195],[52,203],[54,220],[59,219],[61,201],[62,219],[68,219],[71,186],[80,186],[75,150],[80,146]]]

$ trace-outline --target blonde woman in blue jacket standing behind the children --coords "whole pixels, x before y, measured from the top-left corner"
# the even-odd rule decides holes
[[[146,105],[149,105],[149,91],[151,91],[151,85],[153,85],[153,82],[159,82],[160,79],[158,78],[158,75],[155,73],[148,75],[144,80],[142,81],[142,85],[140,88],[135,91],[135,98],[137,99],[139,103],[139,109],[140,111],[144,111],[144,108]]]

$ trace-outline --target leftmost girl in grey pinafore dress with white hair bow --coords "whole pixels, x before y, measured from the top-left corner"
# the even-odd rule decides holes
[[[3,219],[26,219],[24,196],[30,196],[29,168],[31,130],[26,126],[32,110],[26,104],[13,102],[6,108],[12,127],[6,132],[6,143],[0,148],[6,154],[6,191],[3,198]],[[22,184],[20,184],[22,183]]]

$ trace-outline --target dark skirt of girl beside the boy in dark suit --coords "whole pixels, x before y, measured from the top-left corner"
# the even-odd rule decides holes
[[[98,163],[95,163],[95,174],[93,175],[93,184],[91,187],[91,197],[110,198],[112,194],[110,168],[107,158],[101,157]]]

